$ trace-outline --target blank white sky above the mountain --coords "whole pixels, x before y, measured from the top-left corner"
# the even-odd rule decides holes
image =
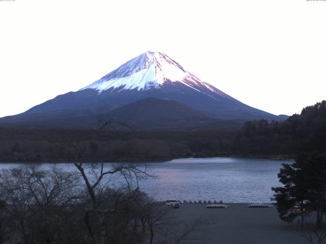
[[[326,1],[0,0],[0,21],[0,117],[146,51],[270,113],[326,99]]]

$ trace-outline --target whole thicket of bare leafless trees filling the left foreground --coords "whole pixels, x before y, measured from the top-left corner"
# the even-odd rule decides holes
[[[194,229],[195,224],[175,222],[173,209],[139,190],[135,166],[105,167],[83,166],[94,196],[76,170],[36,164],[3,170],[0,244],[179,243]],[[109,169],[119,170],[103,175]]]

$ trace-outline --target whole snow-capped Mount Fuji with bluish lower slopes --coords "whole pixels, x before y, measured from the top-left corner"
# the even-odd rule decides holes
[[[158,103],[157,99],[162,102]],[[120,113],[118,117],[123,117],[121,113],[128,113],[130,109],[122,107],[140,100],[144,102],[132,105],[133,110],[135,106],[146,105],[151,107],[146,110],[150,113],[155,111],[155,106],[159,104],[160,107],[157,108],[159,110],[162,106],[166,106],[167,109],[161,111],[164,111],[169,120],[175,118],[173,114],[180,114],[181,108],[182,111],[192,111],[187,115],[181,113],[185,114],[186,120],[190,117],[196,119],[200,117],[201,120],[280,120],[287,117],[277,116],[241,103],[187,72],[164,53],[146,52],[77,92],[59,95],[21,114],[1,118],[0,124],[90,126],[104,114],[116,116]],[[174,106],[168,101],[175,101],[182,106]],[[174,111],[176,107],[178,111]],[[169,111],[171,111],[170,115],[167,114]],[[164,117],[165,114],[161,116]],[[196,116],[192,116],[194,114]],[[130,119],[128,115],[126,117]],[[175,119],[181,118],[178,116]]]

